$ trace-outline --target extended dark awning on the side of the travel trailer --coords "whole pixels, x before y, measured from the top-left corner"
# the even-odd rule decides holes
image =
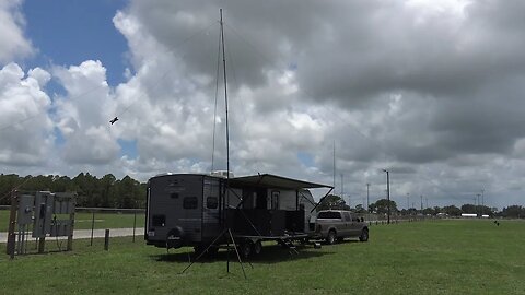
[[[287,178],[272,174],[260,174],[252,176],[243,176],[230,178],[230,187],[268,187],[280,189],[312,189],[312,188],[332,188],[328,185],[303,181],[293,178]]]

